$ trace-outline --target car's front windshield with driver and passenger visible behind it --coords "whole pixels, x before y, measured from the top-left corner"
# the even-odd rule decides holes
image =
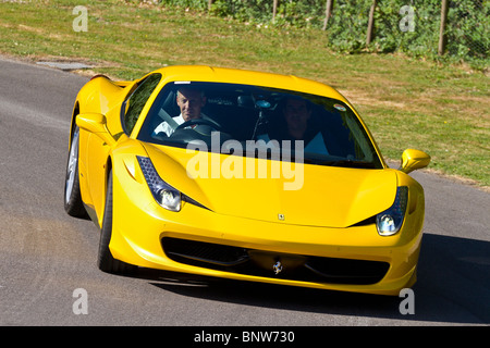
[[[168,84],[137,138],[234,156],[301,156],[305,163],[319,165],[382,167],[363,125],[344,102],[252,85]]]

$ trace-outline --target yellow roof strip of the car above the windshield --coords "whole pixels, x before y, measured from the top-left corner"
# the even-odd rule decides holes
[[[294,75],[207,65],[172,65],[159,69],[154,73],[162,74],[166,83],[191,80],[257,85],[319,95],[347,102],[347,100],[334,88],[313,79]]]

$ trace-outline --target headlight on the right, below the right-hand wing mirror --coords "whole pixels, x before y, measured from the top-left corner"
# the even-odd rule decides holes
[[[376,227],[381,236],[392,236],[400,231],[403,225],[403,220],[405,219],[407,201],[408,187],[401,186],[396,189],[396,197],[393,206],[376,215]]]

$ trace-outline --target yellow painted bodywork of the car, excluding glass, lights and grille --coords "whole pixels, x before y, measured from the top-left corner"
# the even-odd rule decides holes
[[[137,139],[158,92],[172,82],[260,85],[326,96],[352,108],[338,91],[294,76],[208,66],[170,66],[155,73],[161,74],[162,78],[131,134],[124,133],[121,126],[121,108],[143,78],[125,83],[95,78],[84,86],[75,103],[72,129],[77,114],[100,113],[107,122],[108,133],[114,138],[113,144],[107,144],[97,134],[82,128],[78,149],[82,200],[100,227],[108,174],[109,170],[112,171],[113,222],[109,248],[114,259],[143,268],[206,276],[381,295],[399,295],[402,288],[415,283],[422,236],[424,190],[407,174],[388,167],[360,117],[382,169],[296,164],[302,165],[303,175],[303,187],[298,190],[283,189],[284,184],[298,177],[229,179],[221,173],[221,176],[212,178],[209,171],[209,177],[192,178],[187,170],[189,162],[196,159],[196,152]],[[204,152],[200,156],[209,163],[219,163],[220,167],[230,165],[229,154]],[[204,207],[183,201],[179,212],[163,209],[148,188],[137,157],[151,159],[164,182]],[[272,165],[272,161],[266,159],[244,157],[235,160],[244,167],[269,165],[270,170]],[[369,219],[394,203],[396,188],[401,186],[408,187],[407,210],[401,232],[381,236],[376,223]],[[388,263],[389,268],[382,279],[373,284],[228,272],[171,259],[162,248],[166,238],[253,250],[259,256],[257,260],[271,266],[277,258],[294,265],[296,259],[315,257],[377,261]]]

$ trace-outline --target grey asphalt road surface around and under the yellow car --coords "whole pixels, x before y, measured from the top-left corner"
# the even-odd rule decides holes
[[[490,194],[425,172],[413,174],[426,190],[414,314],[399,297],[98,271],[98,231],[63,210],[70,115],[86,80],[0,58],[0,325],[490,324]]]

